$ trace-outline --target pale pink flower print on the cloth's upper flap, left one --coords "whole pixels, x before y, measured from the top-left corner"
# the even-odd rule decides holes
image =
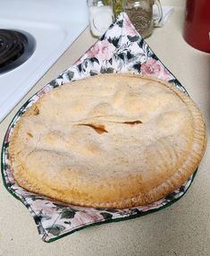
[[[110,60],[113,56],[113,52],[115,50],[115,47],[110,42],[104,40],[104,41],[98,41],[96,45],[91,47],[88,51],[88,57],[96,57],[100,58],[102,60]]]

